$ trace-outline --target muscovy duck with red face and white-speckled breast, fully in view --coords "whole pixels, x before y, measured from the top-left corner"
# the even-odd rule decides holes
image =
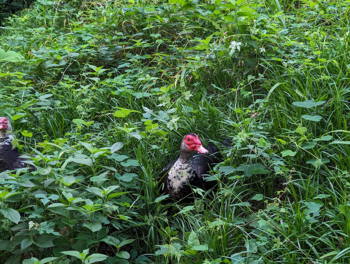
[[[224,140],[222,143],[228,147],[230,142]],[[192,193],[191,186],[204,190],[214,187],[215,181],[208,182],[204,178],[223,160],[216,145],[209,144],[204,148],[196,134],[187,134],[181,142],[180,157],[166,165],[161,173],[165,193],[180,200]]]

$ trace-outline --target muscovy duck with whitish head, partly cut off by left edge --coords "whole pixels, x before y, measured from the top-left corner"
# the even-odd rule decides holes
[[[20,158],[17,148],[12,148],[12,126],[6,117],[0,117],[0,172],[27,167],[23,162],[28,159]]]

